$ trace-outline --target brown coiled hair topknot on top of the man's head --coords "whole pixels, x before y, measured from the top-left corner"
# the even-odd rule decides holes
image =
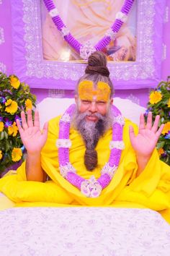
[[[109,69],[107,68],[107,58],[102,51],[95,51],[89,56],[88,65],[85,69],[86,74],[102,74],[109,77]]]

